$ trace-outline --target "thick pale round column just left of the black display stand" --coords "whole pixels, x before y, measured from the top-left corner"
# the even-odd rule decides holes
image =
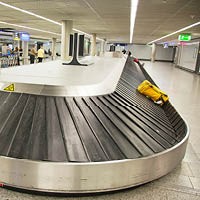
[[[69,41],[70,34],[72,33],[72,20],[63,20],[62,21],[62,35],[61,35],[61,59],[69,59]]]

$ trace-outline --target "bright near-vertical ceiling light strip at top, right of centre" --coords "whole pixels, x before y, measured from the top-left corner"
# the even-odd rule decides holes
[[[135,18],[137,13],[139,0],[131,0],[131,10],[130,10],[130,43],[133,42],[133,30],[135,26]]]

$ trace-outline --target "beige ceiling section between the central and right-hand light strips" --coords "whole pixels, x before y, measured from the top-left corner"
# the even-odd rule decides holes
[[[198,21],[200,21],[199,0],[140,0],[134,42],[148,43]],[[186,32],[192,33],[193,29]],[[177,39],[177,36],[163,41],[171,39]]]

